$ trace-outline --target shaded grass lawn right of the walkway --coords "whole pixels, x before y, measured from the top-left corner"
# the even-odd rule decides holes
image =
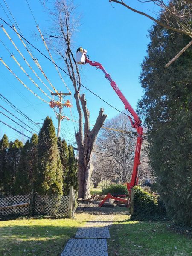
[[[189,236],[172,232],[168,224],[167,222],[117,221],[110,228],[108,255],[192,255],[192,240]]]

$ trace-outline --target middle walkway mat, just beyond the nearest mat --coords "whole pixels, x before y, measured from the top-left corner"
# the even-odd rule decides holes
[[[76,238],[110,238],[108,227],[79,227]]]

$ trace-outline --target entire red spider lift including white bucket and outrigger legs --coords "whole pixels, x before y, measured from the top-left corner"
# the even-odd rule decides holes
[[[96,69],[100,69],[103,71],[103,73],[105,74],[105,78],[109,81],[109,83],[111,84],[111,87],[113,88],[113,90],[115,90],[116,94],[119,96],[119,98],[125,105],[125,109],[128,111],[128,114],[131,114],[132,117],[128,115],[129,121],[131,122],[131,126],[136,129],[137,134],[138,134],[131,181],[130,181],[130,183],[127,183],[127,189],[129,192],[128,201],[123,198],[115,197],[115,196],[112,196],[111,194],[108,194],[105,197],[105,199],[99,204],[99,206],[102,206],[105,203],[105,201],[109,198],[112,198],[112,199],[115,199],[118,201],[122,201],[124,203],[128,203],[128,206],[129,206],[130,200],[131,200],[131,188],[133,188],[135,185],[138,184],[138,168],[140,165],[140,151],[141,151],[141,143],[142,143],[142,135],[143,135],[143,128],[141,126],[141,120],[140,120],[139,116],[137,115],[137,113],[134,111],[134,109],[129,104],[128,100],[125,98],[125,96],[119,90],[119,87],[117,86],[115,81],[111,78],[111,76],[107,73],[105,68],[102,66],[102,64],[100,64],[99,62],[96,62],[96,61],[90,61],[89,56],[87,56],[86,53],[87,53],[86,50],[77,51],[76,52],[76,63],[78,63],[78,64],[87,64],[88,63],[91,66],[96,67]]]

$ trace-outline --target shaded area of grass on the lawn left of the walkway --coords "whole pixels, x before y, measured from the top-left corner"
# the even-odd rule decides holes
[[[58,256],[78,227],[18,225],[0,229],[0,255]]]

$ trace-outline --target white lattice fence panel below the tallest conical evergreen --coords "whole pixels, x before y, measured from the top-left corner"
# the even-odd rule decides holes
[[[69,207],[69,196],[35,196],[35,212],[47,215],[67,215]]]

